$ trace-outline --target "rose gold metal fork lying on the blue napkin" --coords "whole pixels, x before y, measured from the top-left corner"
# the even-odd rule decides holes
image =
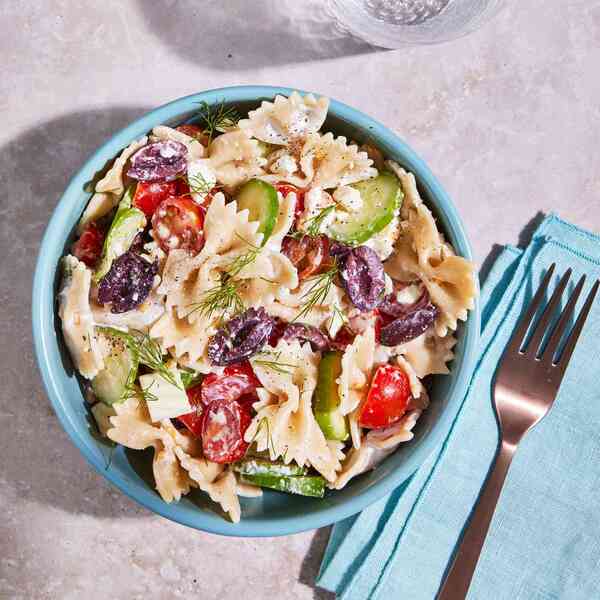
[[[596,281],[577,322],[568,335],[564,349],[558,355],[560,341],[573,316],[575,305],[585,283],[585,275],[583,275],[562,311],[547,344],[542,347],[546,333],[550,333],[552,316],[571,277],[571,269],[568,269],[557,285],[539,321],[533,326],[530,341],[526,343],[527,332],[546,295],[554,269],[555,264],[552,264],[527,312],[515,329],[500,361],[492,390],[500,426],[499,450],[464,530],[460,545],[455,551],[454,560],[447,571],[437,600],[461,600],[466,597],[517,445],[525,433],[538,423],[552,407],[569,359],[598,291],[600,282]]]

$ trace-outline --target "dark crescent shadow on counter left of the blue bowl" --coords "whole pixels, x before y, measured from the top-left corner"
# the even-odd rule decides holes
[[[33,356],[31,284],[46,224],[88,156],[146,108],[82,111],[40,123],[0,148],[1,479],[8,499],[98,517],[145,516],[87,465],[62,430]],[[7,499],[7,500],[8,500]]]

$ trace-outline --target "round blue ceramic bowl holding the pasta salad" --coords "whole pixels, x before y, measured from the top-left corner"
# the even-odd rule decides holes
[[[242,499],[239,524],[224,519],[201,493],[186,496],[179,503],[166,504],[154,491],[149,467],[151,454],[122,447],[111,454],[93,435],[80,383],[60,334],[55,301],[59,259],[69,247],[75,225],[90,197],[84,191],[85,183],[129,142],[154,126],[193,120],[202,101],[208,104],[225,101],[247,110],[263,99],[272,99],[275,94],[288,95],[291,91],[241,86],[202,92],[165,104],[119,131],[87,160],[69,183],[46,229],[35,271],[32,314],[35,352],[50,401],[73,443],[98,473],[149,510],[178,523],[224,535],[276,536],[323,527],[359,512],[406,481],[441,444],[450,428],[466,391],[479,334],[476,307],[458,331],[452,372],[433,381],[431,406],[419,420],[415,438],[410,443],[402,445],[375,470],[352,480],[343,490],[328,493],[323,499],[268,491],[262,498]],[[331,101],[325,126],[349,139],[374,142],[386,157],[412,171],[447,239],[458,254],[471,257],[461,220],[450,198],[425,163],[401,139],[381,123],[335,100]]]

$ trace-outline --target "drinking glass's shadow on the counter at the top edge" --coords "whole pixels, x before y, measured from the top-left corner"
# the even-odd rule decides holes
[[[366,54],[377,49],[340,31],[323,0],[138,0],[154,34],[192,63],[245,70]]]

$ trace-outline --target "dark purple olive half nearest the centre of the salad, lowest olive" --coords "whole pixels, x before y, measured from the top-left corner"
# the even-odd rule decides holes
[[[228,321],[208,343],[208,357],[214,365],[230,365],[259,352],[267,343],[275,320],[264,308],[249,308]]]

